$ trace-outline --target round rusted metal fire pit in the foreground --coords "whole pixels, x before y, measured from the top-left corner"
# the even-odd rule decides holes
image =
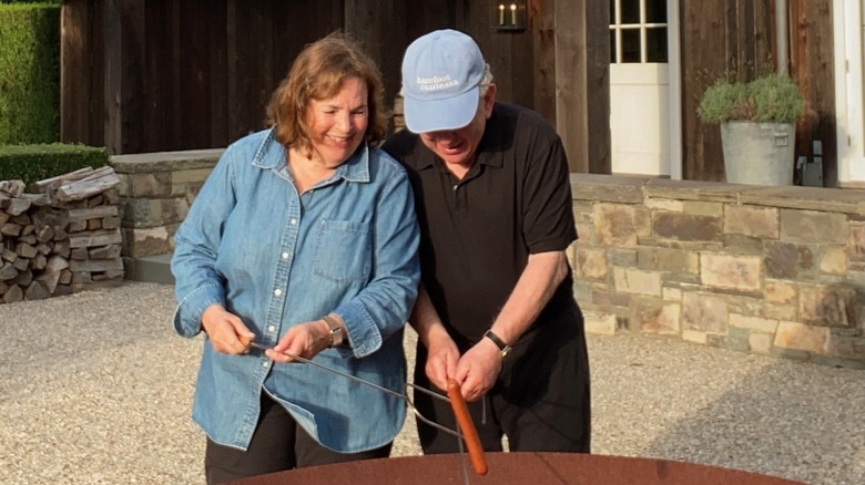
[[[591,485],[802,485],[716,466],[573,453],[486,453],[489,472],[468,465],[470,484]],[[236,485],[354,484],[430,485],[465,483],[460,455],[427,455],[312,466],[234,482]]]

